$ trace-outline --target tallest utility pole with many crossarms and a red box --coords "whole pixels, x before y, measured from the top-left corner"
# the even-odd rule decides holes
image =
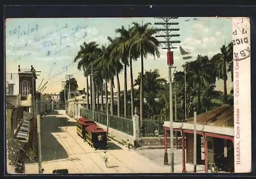
[[[155,37],[163,37],[164,41],[159,41],[163,43],[165,47],[162,49],[167,49],[167,65],[169,69],[169,113],[170,113],[170,171],[174,172],[174,132],[173,132],[173,86],[172,86],[172,66],[174,64],[173,52],[170,49],[177,48],[174,47],[173,43],[180,43],[180,40],[171,40],[172,37],[179,37],[180,34],[171,34],[172,31],[179,31],[178,28],[170,28],[170,25],[178,25],[179,22],[170,22],[171,19],[177,19],[178,17],[156,17],[163,20],[163,22],[155,22],[157,25],[163,25],[164,28],[157,29],[158,31],[165,32],[165,35],[156,35]],[[166,154],[167,155],[167,154]]]

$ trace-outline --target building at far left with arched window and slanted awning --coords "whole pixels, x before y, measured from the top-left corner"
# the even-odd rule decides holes
[[[6,141],[8,164],[24,173],[28,150],[37,154],[37,123],[40,98],[36,94],[36,73],[31,69],[6,76]],[[36,104],[38,102],[38,104]]]

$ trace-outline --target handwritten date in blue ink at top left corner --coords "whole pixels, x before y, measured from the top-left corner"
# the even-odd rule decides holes
[[[33,34],[34,32],[37,32],[38,27],[39,27],[38,24],[35,24],[35,25],[32,25],[32,26],[30,26],[30,24],[28,24],[28,27],[25,30],[25,28],[21,28],[20,25],[18,25],[17,28],[9,31],[9,35],[10,36],[15,36],[16,35],[18,38],[20,36],[25,36],[25,35],[29,36],[30,34]]]

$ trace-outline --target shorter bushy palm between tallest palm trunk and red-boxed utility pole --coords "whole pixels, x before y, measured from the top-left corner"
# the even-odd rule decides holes
[[[140,79],[141,73],[139,73],[138,78],[135,80],[135,86],[139,86],[140,88]],[[156,101],[155,99],[158,97],[157,94],[164,89],[164,84],[167,81],[163,78],[160,78],[159,70],[154,69],[145,71],[144,80],[143,80],[143,91],[145,93],[145,99],[148,105],[148,115],[153,116],[156,112]]]

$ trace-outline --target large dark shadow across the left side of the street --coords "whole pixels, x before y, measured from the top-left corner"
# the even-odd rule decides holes
[[[56,112],[58,114],[58,112]],[[54,113],[55,114],[55,113]],[[50,113],[52,115],[52,113]],[[51,133],[61,133],[61,127],[75,126],[66,117],[46,116],[41,122],[42,162],[68,158],[68,153]]]

